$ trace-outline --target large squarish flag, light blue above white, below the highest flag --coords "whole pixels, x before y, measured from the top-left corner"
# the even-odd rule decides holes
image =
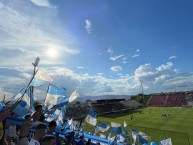
[[[64,87],[54,86],[50,84],[46,95],[45,104],[53,106],[59,105],[59,107],[62,107],[68,102],[66,91],[67,90]]]

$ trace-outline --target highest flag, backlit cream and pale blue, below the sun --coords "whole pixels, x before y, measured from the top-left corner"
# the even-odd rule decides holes
[[[30,86],[41,86],[42,84],[46,83],[46,82],[52,82],[53,78],[51,76],[49,76],[47,73],[38,70],[32,80],[32,82],[30,83]]]

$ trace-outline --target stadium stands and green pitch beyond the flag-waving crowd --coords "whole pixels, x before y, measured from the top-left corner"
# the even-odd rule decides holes
[[[133,98],[136,97],[140,96]],[[173,144],[192,144],[193,128],[190,123],[192,117],[188,115],[193,111],[191,105],[192,91],[151,94],[148,98],[145,106],[135,100],[112,99],[90,102],[85,104],[83,108],[92,107],[100,116],[99,122],[110,124],[110,122],[115,121],[123,124],[126,121],[128,130],[142,131],[156,142],[163,138],[172,138]],[[86,116],[86,109],[83,111],[78,107],[72,110],[69,106],[69,110],[69,112],[76,112],[76,116],[78,116],[79,111],[80,114]],[[70,118],[69,112],[67,110],[67,118]],[[94,129],[88,123],[85,123],[84,126],[87,131]],[[130,138],[132,142],[132,136]]]

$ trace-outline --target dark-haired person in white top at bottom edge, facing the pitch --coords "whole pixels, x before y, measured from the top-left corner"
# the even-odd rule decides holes
[[[39,124],[36,127],[36,132],[34,137],[31,139],[30,143],[28,145],[40,145],[39,140],[44,135],[46,131],[46,125],[45,124]]]

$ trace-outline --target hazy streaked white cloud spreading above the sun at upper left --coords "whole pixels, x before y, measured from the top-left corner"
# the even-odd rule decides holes
[[[79,50],[68,47],[74,40],[61,27],[55,10],[30,7],[30,4],[29,1],[13,1],[12,4],[3,4],[4,8],[0,9],[1,64],[24,63],[37,56],[43,58],[41,63],[48,63],[45,52],[49,48],[59,54],[78,54]],[[29,6],[29,11],[23,10],[25,5]],[[5,56],[9,61],[4,61]]]

